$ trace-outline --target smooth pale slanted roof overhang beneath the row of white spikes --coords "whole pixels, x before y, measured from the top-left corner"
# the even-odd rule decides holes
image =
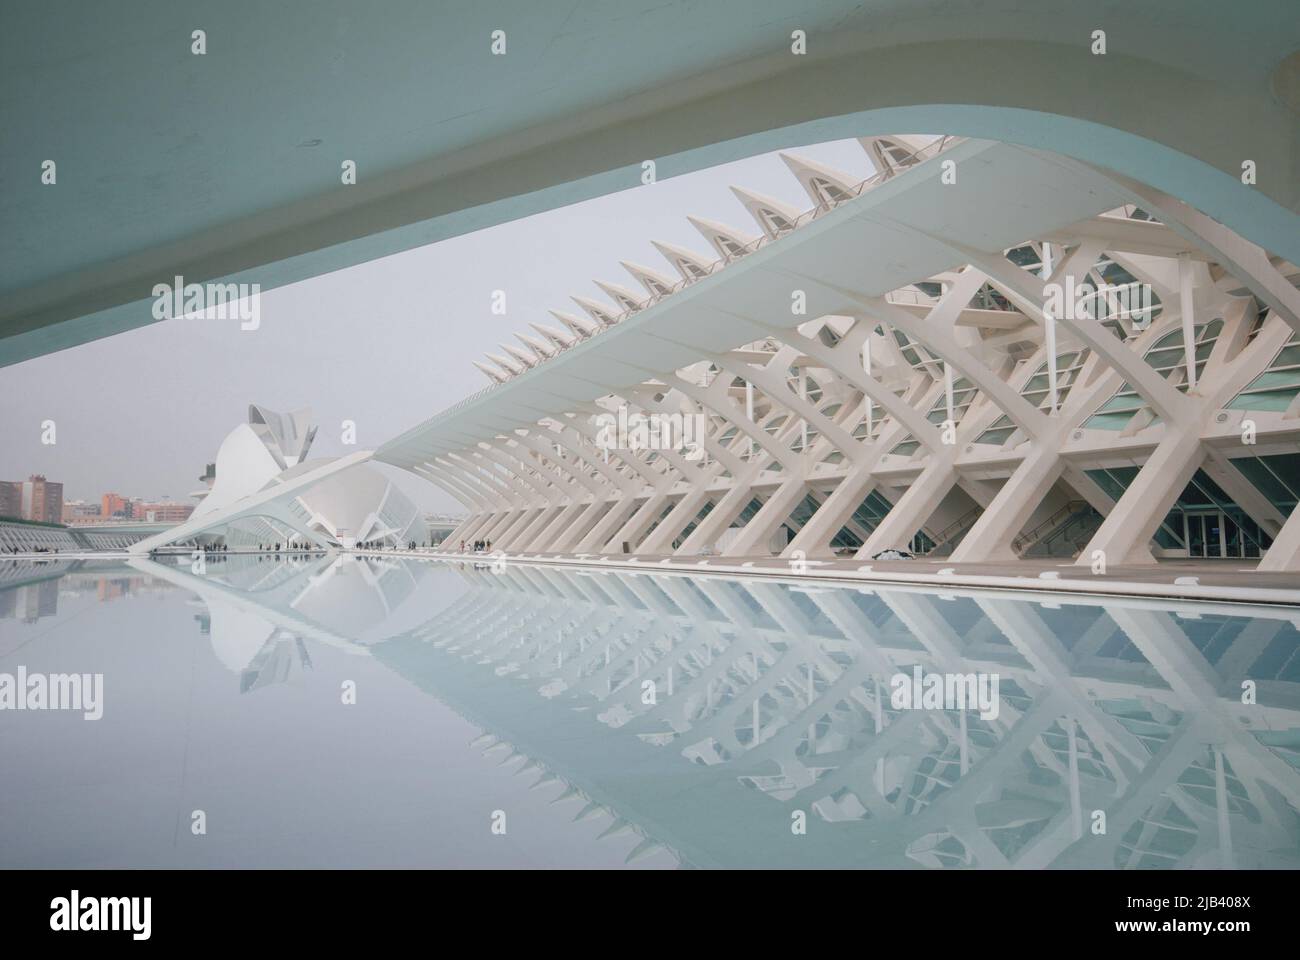
[[[937,176],[957,164],[961,189]],[[1105,176],[1005,143],[967,140],[755,252],[632,313],[504,384],[485,388],[382,445],[374,458],[411,470],[436,457],[563,418],[599,397],[793,328],[809,316],[861,312],[883,297],[1000,254],[1126,202]],[[793,315],[790,290],[807,294]]]

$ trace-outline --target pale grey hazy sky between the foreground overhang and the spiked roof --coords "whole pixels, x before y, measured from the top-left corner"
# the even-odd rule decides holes
[[[874,172],[857,140],[789,151],[849,174]],[[619,260],[676,278],[651,241],[715,259],[686,221],[718,220],[757,235],[729,186],[807,209],[811,199],[777,153],[637,186],[268,290],[261,324],[177,319],[0,368],[0,479],[44,473],[65,500],[103,493],[195,502],[204,464],[247,420],[248,405],[312,410],[309,459],[374,449],[488,384],[472,360],[519,346],[549,310],[580,313],[571,295],[608,298],[593,280],[640,285]],[[493,291],[506,315],[491,312]],[[56,442],[42,442],[53,420]],[[344,446],[342,424],[356,424]],[[464,513],[422,479],[382,467],[426,510]]]

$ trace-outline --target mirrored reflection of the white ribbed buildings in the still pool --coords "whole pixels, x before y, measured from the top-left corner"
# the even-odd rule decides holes
[[[198,594],[240,689],[309,669],[313,643],[372,656],[576,818],[638,835],[629,860],[1300,861],[1294,607],[333,555],[133,566]],[[447,576],[459,596],[421,602]],[[997,715],[896,708],[918,665],[997,674]]]

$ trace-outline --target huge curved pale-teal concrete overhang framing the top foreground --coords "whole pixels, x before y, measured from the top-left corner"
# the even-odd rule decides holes
[[[636,186],[645,160],[900,130],[1097,164],[1300,260],[1288,0],[44,4],[4,27],[0,364],[153,321],[177,274],[266,290]]]

